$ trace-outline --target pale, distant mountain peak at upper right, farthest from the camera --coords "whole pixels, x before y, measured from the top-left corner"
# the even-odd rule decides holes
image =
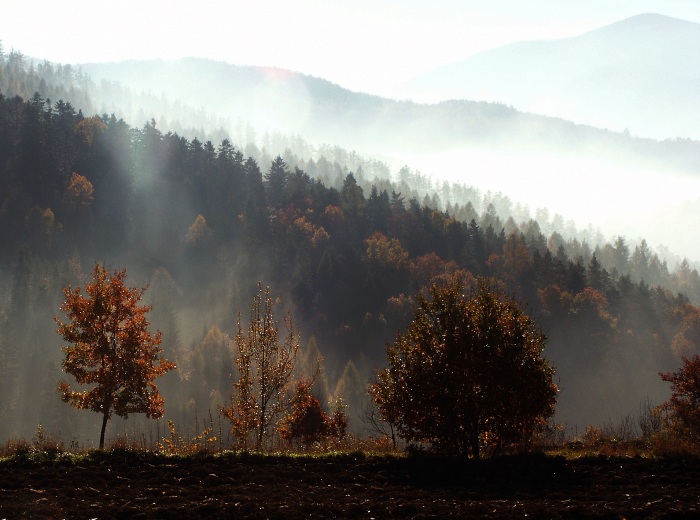
[[[531,41],[427,72],[402,96],[476,99],[657,139],[700,137],[700,24],[642,14],[575,38]]]

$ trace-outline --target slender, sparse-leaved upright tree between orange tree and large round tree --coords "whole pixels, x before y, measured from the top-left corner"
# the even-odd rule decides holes
[[[287,331],[280,343],[270,289],[263,290],[260,284],[250,306],[247,331],[243,330],[238,314],[234,340],[238,379],[233,383],[231,405],[221,409],[244,449],[248,448],[252,434],[256,451],[264,450],[276,422],[292,403],[288,391],[299,353],[299,333],[294,331],[291,313],[287,314],[284,325]]]

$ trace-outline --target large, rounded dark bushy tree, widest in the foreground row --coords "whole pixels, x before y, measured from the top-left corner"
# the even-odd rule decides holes
[[[554,413],[545,337],[512,300],[481,280],[432,283],[387,348],[370,394],[411,442],[479,458],[528,440]]]

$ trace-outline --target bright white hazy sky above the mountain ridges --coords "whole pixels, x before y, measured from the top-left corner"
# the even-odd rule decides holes
[[[700,23],[697,0],[0,0],[0,40],[61,63],[208,57],[385,93],[475,52],[644,12]]]

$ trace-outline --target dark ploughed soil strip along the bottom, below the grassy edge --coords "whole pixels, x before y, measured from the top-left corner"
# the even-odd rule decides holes
[[[700,461],[94,453],[0,463],[0,518],[700,518]]]

